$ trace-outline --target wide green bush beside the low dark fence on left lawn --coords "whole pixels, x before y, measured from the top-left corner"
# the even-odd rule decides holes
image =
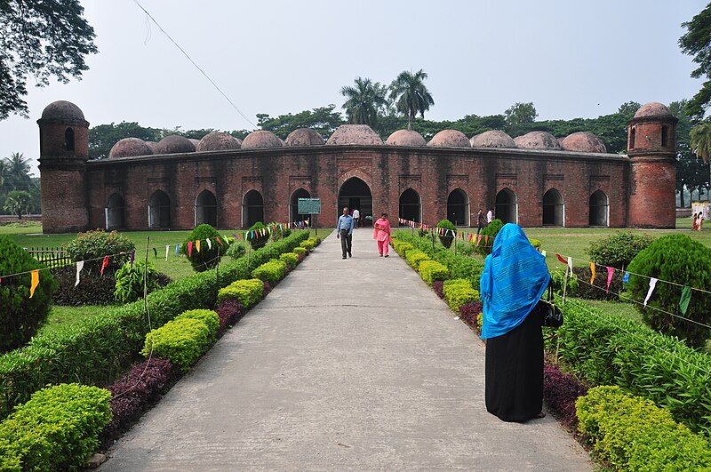
[[[99,276],[104,257],[109,256],[108,266],[104,269],[104,275],[108,276],[128,262],[134,249],[136,245],[126,236],[96,229],[76,235],[76,239],[67,245],[67,254],[76,262],[84,260],[84,276]]]

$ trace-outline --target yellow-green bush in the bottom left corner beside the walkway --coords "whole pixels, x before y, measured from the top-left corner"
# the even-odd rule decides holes
[[[0,423],[2,470],[84,470],[111,420],[110,399],[76,383],[37,391]]]

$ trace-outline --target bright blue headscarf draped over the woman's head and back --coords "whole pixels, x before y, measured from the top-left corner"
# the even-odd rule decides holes
[[[546,258],[531,245],[521,227],[504,225],[486,257],[479,282],[482,339],[501,336],[522,324],[549,282]]]

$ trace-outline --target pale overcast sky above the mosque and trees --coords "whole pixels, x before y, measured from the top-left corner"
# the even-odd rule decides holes
[[[701,85],[678,46],[682,22],[706,5],[697,0],[138,2],[252,123],[133,0],[87,0],[99,53],[81,81],[30,87],[30,118],[0,121],[0,157],[21,152],[39,173],[36,120],[54,100],[92,126],[229,131],[254,129],[258,113],[340,110],[356,76],[389,84],[405,69],[427,72],[433,120],[528,101],[542,120],[595,117]]]

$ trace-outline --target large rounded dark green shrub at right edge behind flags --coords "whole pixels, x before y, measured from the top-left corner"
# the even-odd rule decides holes
[[[639,303],[644,322],[653,329],[686,340],[692,348],[701,348],[711,333],[706,326],[690,323],[677,316],[683,316],[701,324],[711,324],[711,297],[698,292],[691,294],[689,308],[683,315],[679,308],[682,287],[711,290],[711,249],[684,235],[662,236],[639,252],[629,264],[629,284],[627,291]],[[640,274],[643,276],[636,276]],[[643,300],[649,291],[649,277],[659,282],[647,307]],[[675,316],[667,315],[671,313]]]

